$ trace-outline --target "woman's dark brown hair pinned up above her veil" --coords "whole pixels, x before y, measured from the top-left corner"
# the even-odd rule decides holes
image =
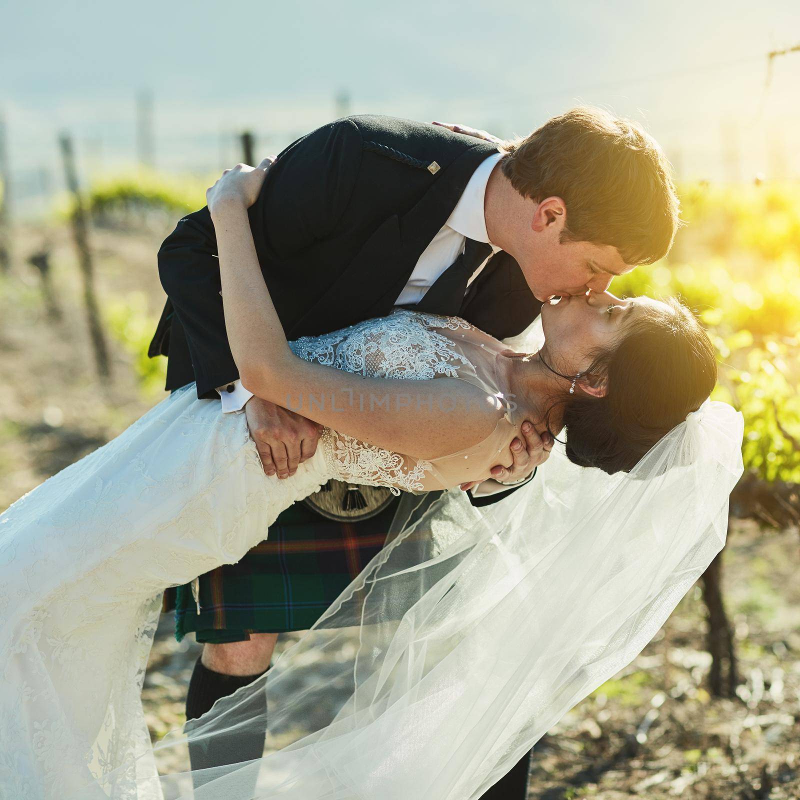
[[[717,359],[694,314],[674,299],[670,310],[642,306],[614,346],[599,351],[585,374],[606,394],[575,389],[564,407],[566,454],[579,466],[628,472],[662,436],[697,410],[717,382]]]

